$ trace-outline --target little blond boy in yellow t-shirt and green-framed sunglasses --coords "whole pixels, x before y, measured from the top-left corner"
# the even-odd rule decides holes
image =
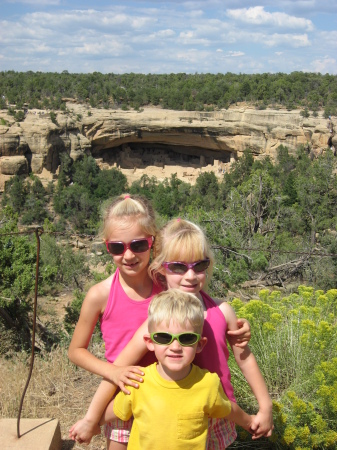
[[[143,369],[139,389],[120,392],[113,405],[116,418],[134,416],[128,450],[204,450],[209,417],[227,417],[250,430],[253,416],[228,400],[218,375],[192,364],[207,343],[203,323],[193,294],[170,289],[152,299],[144,340],[158,363]]]

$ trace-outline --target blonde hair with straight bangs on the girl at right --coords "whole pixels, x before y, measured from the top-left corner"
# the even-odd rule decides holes
[[[162,263],[166,261],[191,262],[209,258],[207,275],[212,274],[214,256],[202,229],[183,219],[173,219],[157,234],[154,260],[150,264],[149,274],[158,284],[165,286]]]

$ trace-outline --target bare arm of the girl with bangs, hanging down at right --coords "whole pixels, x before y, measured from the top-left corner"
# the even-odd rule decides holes
[[[223,303],[220,308],[226,318],[228,328],[230,330],[235,330],[237,327],[237,317],[233,308],[228,305],[228,303]],[[248,345],[244,348],[238,348],[237,346],[231,345],[231,348],[235,360],[259,404],[259,411],[256,416],[254,416],[251,425],[254,437],[257,439],[261,436],[271,436],[274,428],[272,401],[256,359]]]

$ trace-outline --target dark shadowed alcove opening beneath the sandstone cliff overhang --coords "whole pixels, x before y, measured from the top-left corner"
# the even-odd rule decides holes
[[[144,142],[130,142],[120,147],[105,149],[99,155],[95,154],[95,157],[101,157],[104,162],[109,165],[116,164],[121,169],[145,169],[148,166],[202,168],[230,162],[230,152],[226,151]]]

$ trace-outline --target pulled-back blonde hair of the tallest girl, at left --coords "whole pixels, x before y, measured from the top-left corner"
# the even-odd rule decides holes
[[[150,202],[139,195],[122,194],[115,197],[103,211],[101,236],[108,239],[111,230],[127,228],[138,223],[145,234],[155,236],[157,232],[155,213]]]

